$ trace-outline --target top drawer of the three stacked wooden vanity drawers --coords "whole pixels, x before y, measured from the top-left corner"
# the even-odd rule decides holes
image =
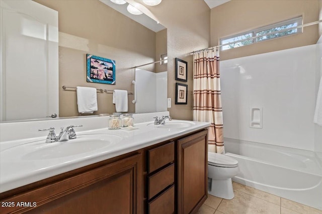
[[[148,173],[175,160],[175,143],[171,142],[147,151]]]

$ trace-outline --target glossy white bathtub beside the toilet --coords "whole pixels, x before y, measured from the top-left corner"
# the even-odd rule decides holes
[[[233,181],[322,210],[322,154],[224,138],[238,161]]]

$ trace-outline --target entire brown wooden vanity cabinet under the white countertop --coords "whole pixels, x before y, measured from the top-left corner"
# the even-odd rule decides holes
[[[15,204],[0,213],[195,213],[207,154],[207,130],[196,131],[0,193]]]

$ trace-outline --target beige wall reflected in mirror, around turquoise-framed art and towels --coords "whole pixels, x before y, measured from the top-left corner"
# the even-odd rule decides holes
[[[58,11],[60,117],[78,116],[76,92],[64,91],[62,85],[133,91],[130,68],[154,61],[155,32],[99,1],[35,2]],[[86,82],[86,54],[116,61],[116,85]],[[134,112],[133,95],[128,98],[129,112]],[[98,108],[95,114],[115,112],[112,94],[98,93]]]

